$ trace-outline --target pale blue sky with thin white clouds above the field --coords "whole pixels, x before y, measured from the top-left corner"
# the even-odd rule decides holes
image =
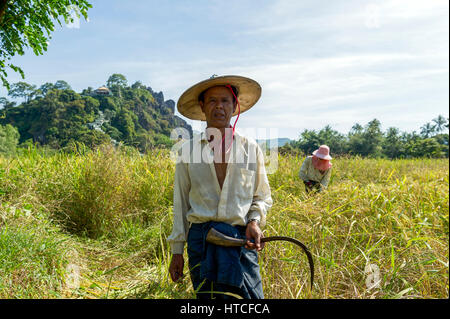
[[[291,139],[326,125],[347,133],[374,118],[383,131],[420,131],[449,116],[447,0],[90,3],[88,21],[57,25],[44,55],[13,58],[26,82],[65,80],[81,92],[121,73],[177,102],[213,74],[242,75],[262,95],[237,127]]]

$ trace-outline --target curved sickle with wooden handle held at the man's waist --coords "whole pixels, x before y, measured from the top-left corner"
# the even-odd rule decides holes
[[[294,243],[300,247],[302,247],[303,251],[305,252],[306,256],[308,257],[309,262],[309,270],[311,271],[311,289],[313,287],[314,282],[314,262],[312,259],[312,255],[309,252],[308,248],[299,240],[291,237],[285,237],[285,236],[271,236],[271,237],[263,237],[261,238],[261,242],[269,242],[269,241],[288,241],[291,243]],[[208,234],[206,235],[206,241],[219,246],[226,246],[226,247],[239,247],[239,246],[245,246],[247,243],[246,239],[240,239],[240,238],[233,238],[230,236],[226,236],[222,234],[221,232],[215,230],[214,228],[211,228],[208,231]]]

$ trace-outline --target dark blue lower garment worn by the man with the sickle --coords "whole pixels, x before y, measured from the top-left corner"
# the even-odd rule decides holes
[[[206,235],[212,227],[227,236],[245,238],[244,226],[219,222],[191,225],[187,252],[197,298],[264,298],[257,252],[244,247],[221,247],[206,242]]]

